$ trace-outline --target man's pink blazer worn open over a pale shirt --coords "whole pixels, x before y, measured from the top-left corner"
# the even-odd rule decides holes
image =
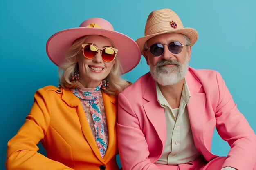
[[[222,167],[252,170],[256,135],[239,112],[220,73],[189,68],[188,112],[195,146],[207,161],[214,128],[231,147]],[[124,170],[154,170],[166,141],[164,109],[157,102],[155,81],[146,73],[118,96],[117,137]]]

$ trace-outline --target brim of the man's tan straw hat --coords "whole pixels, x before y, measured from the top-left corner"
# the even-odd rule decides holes
[[[165,33],[181,33],[186,35],[187,37],[189,37],[189,39],[192,42],[192,46],[195,44],[195,42],[198,40],[198,32],[193,29],[193,28],[181,28],[181,29],[175,29],[174,31],[165,31],[165,32],[161,32],[161,33],[155,33],[152,35],[146,35],[144,37],[138,38],[136,40],[139,49],[140,49],[140,53],[141,55],[143,55],[143,51],[144,49],[144,44],[152,37],[155,37],[156,35],[161,35],[161,34],[165,34]]]

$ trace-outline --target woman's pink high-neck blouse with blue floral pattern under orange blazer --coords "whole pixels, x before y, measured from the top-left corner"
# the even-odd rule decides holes
[[[101,85],[102,83],[96,88],[80,87],[70,89],[70,91],[80,99],[101,157],[104,157],[108,148],[108,127]]]

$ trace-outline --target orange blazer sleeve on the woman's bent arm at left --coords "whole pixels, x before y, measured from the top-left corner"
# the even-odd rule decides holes
[[[7,170],[72,170],[38,153],[50,122],[51,103],[43,89],[36,91],[34,104],[25,123],[7,144]]]

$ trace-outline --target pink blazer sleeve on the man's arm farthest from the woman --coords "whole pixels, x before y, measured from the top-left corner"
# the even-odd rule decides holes
[[[216,72],[219,99],[216,107],[216,129],[231,147],[223,167],[252,170],[256,165],[256,135],[240,113],[220,73]]]

